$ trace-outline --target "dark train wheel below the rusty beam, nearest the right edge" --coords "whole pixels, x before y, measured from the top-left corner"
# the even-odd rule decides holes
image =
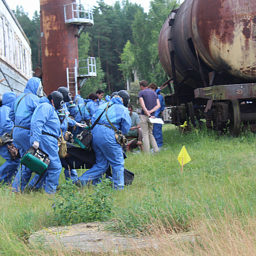
[[[232,136],[240,134],[241,112],[238,100],[229,100],[228,103],[229,132]]]

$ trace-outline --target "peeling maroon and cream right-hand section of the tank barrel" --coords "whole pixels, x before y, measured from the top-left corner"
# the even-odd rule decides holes
[[[194,0],[192,31],[208,66],[255,81],[256,1]]]

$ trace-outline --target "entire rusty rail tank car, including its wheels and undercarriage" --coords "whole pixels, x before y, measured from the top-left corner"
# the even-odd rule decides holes
[[[185,0],[161,28],[159,58],[173,124],[204,115],[220,132],[256,131],[256,1]]]

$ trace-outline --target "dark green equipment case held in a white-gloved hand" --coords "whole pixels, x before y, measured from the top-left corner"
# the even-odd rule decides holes
[[[34,173],[41,176],[50,164],[50,159],[47,153],[39,148],[36,150],[34,147],[31,147],[22,157],[20,162]]]

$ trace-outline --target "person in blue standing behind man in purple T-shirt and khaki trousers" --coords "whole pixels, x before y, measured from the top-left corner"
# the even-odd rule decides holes
[[[155,117],[156,118],[162,118],[162,112],[164,111],[165,108],[165,103],[164,103],[164,97],[161,95],[161,89],[159,89],[155,83],[151,83],[149,86],[149,89],[153,90],[156,92],[158,95],[159,101],[160,101],[160,108],[156,110],[155,112]],[[158,147],[163,147],[163,134],[162,134],[162,129],[163,125],[162,124],[154,124],[153,125],[153,135],[156,139],[156,143]]]

